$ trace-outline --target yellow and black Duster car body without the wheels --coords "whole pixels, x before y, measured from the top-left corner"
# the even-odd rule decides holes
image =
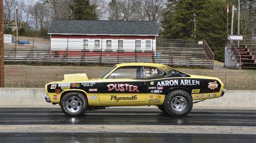
[[[88,107],[163,105],[174,90],[183,90],[196,101],[223,96],[224,84],[217,77],[190,75],[162,64],[121,63],[99,78],[64,75],[63,81],[45,85],[45,99],[59,104],[69,92],[79,92]]]

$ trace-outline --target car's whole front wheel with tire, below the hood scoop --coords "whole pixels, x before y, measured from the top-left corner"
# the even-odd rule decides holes
[[[66,116],[82,116],[87,108],[87,98],[79,92],[69,92],[60,101],[60,107]]]

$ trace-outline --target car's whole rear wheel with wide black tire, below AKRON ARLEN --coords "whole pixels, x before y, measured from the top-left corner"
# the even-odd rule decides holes
[[[164,107],[172,117],[185,117],[193,108],[192,97],[184,90],[174,90],[166,96]]]

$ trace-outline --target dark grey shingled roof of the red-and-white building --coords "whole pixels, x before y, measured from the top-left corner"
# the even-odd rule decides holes
[[[53,20],[48,34],[158,35],[157,22]]]

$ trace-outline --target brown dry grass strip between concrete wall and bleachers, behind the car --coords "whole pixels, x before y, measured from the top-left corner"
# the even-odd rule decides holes
[[[97,78],[110,67],[83,67],[84,70],[52,70],[56,66],[48,66],[49,70],[5,70],[5,87],[44,88],[51,81],[61,81],[64,74],[86,73],[89,78]],[[98,70],[97,70],[98,69]],[[219,77],[228,90],[255,90],[255,71],[193,71],[181,69],[188,74]]]

